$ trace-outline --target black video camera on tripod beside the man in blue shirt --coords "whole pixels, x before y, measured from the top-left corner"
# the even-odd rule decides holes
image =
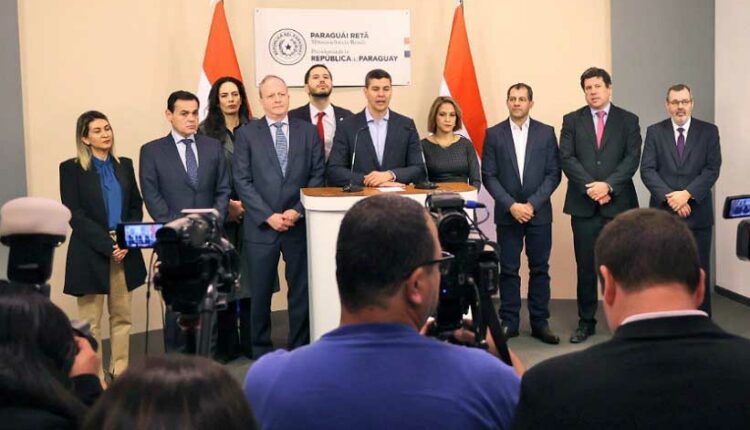
[[[457,193],[435,193],[427,196],[425,206],[435,221],[440,246],[455,256],[440,278],[437,315],[430,334],[452,341],[451,333],[463,326],[463,316],[471,310],[475,343],[470,346],[486,348],[489,329],[500,358],[512,365],[491,297],[498,291],[498,246],[482,233],[475,220],[476,208],[484,205],[465,202]],[[474,209],[474,218],[466,208]]]

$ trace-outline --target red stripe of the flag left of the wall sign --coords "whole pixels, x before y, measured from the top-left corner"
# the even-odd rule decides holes
[[[224,14],[224,2],[219,1],[214,7],[211,30],[208,33],[206,55],[203,57],[203,71],[213,85],[222,76],[232,76],[240,81],[240,65],[234,52],[232,35],[229,33],[227,17]]]

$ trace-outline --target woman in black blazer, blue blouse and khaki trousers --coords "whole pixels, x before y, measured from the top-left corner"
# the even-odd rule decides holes
[[[60,196],[73,214],[64,292],[78,298],[79,317],[91,324],[100,342],[107,299],[112,345],[108,373],[116,376],[128,365],[130,292],[143,285],[146,265],[140,250],[118,248],[114,230],[120,222],[143,219],[143,200],[133,162],[114,155],[114,134],[104,114],[88,111],[78,117],[76,147],[78,156],[60,164]]]

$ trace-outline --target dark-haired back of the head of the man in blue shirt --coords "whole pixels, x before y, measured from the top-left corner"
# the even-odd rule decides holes
[[[392,194],[368,197],[349,209],[336,243],[341,304],[355,312],[383,306],[420,264],[434,258],[426,210]]]

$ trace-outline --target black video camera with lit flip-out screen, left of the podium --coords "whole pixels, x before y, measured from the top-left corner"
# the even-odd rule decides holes
[[[186,209],[166,224],[118,225],[117,242],[126,248],[154,248],[158,266],[154,285],[164,303],[180,314],[188,351],[208,356],[213,315],[226,308],[226,295],[239,285],[239,255],[222,236],[215,209]],[[195,350],[192,344],[197,343]]]

